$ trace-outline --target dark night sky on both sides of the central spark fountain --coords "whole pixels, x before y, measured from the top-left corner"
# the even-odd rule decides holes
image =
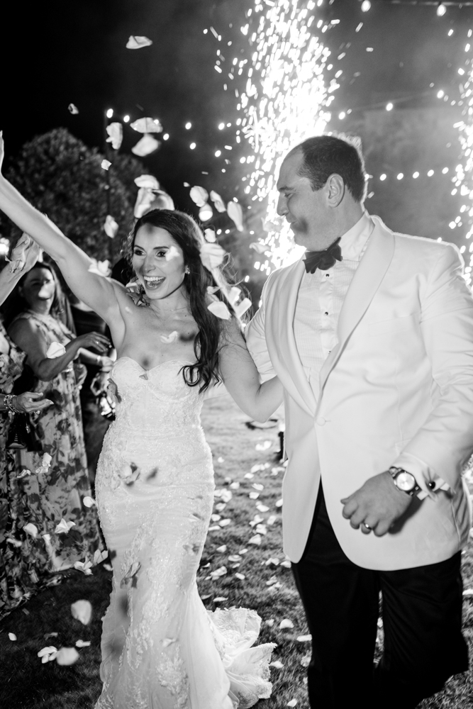
[[[233,128],[217,128],[240,114],[235,95],[223,90],[224,79],[213,65],[218,47],[225,50],[228,65],[234,56],[250,59],[252,50],[240,26],[253,6],[252,0],[9,4],[8,21],[2,22],[0,109],[7,156],[13,157],[34,135],[58,126],[101,147],[104,111],[111,107],[116,116],[128,113],[132,121],[160,118],[169,140],[144,162],[179,206],[191,205],[184,182],[206,185],[202,172],[210,174],[210,186],[224,199],[238,195],[243,174],[238,157],[251,149],[234,143]],[[325,21],[340,19],[320,35],[333,52],[328,82],[343,69],[330,106],[330,128],[343,128],[338,114],[349,108],[355,116],[389,100],[395,110],[438,106],[439,88],[450,99],[459,98],[457,68],[464,63],[472,7],[448,7],[445,16],[438,17],[435,6],[372,0],[372,8],[363,13],[358,0],[323,0],[314,14]],[[364,24],[355,32],[360,22]],[[210,31],[204,34],[210,26],[221,34],[221,43]],[[454,30],[451,37],[449,28]],[[127,50],[132,34],[148,36],[152,46]],[[367,52],[367,47],[373,51]],[[338,60],[342,53],[345,57]],[[77,116],[67,111],[71,102],[79,108]],[[187,121],[191,130],[184,128]],[[139,138],[126,127],[121,150],[128,152]],[[193,141],[196,150],[189,149]],[[214,152],[228,142],[235,150],[223,175],[222,159]]]

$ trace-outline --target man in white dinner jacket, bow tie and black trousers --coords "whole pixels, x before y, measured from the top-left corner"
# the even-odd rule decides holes
[[[284,549],[314,709],[408,709],[468,666],[472,296],[457,248],[393,233],[365,211],[365,185],[349,139],[286,155],[278,213],[308,252],[271,274],[247,328],[262,378],[284,385]]]

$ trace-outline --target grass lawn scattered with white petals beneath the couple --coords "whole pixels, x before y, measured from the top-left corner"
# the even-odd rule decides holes
[[[284,553],[277,501],[281,497],[282,471],[277,470],[277,428],[249,430],[245,426],[247,420],[228,396],[211,398],[204,405],[203,423],[213,452],[217,489],[230,491],[232,498],[226,502],[216,497],[214,512],[221,519],[212,523],[218,528],[208,533],[199,569],[199,591],[206,607],[212,610],[218,605],[255,608],[263,619],[260,641],[277,643],[272,659],[283,666],[272,668],[272,698],[257,706],[282,709],[289,700],[296,699],[298,708],[308,709],[304,664],[310,643],[297,640],[308,634],[308,628],[291,570],[281,565]],[[265,443],[268,441],[270,445]],[[247,476],[256,464],[266,467]],[[252,499],[250,493],[259,495]],[[255,520],[256,515],[262,520]],[[230,523],[220,527],[218,523],[224,519]],[[249,524],[252,520],[253,527]],[[265,525],[260,532],[258,523]],[[260,545],[250,544],[257,533]],[[241,554],[243,549],[247,552]],[[229,559],[235,554],[241,558]],[[473,587],[473,540],[463,554],[463,562],[464,588],[469,589]],[[226,574],[212,577],[211,572],[222,566],[226,567]],[[100,619],[108,605],[111,573],[99,566],[92,576],[79,571],[68,574],[62,584],[38,594],[0,625],[2,709],[91,709],[99,696]],[[70,613],[71,603],[79,598],[88,599],[94,609],[89,625],[74,620]],[[291,620],[294,627],[280,630],[283,619]],[[16,641],[9,639],[9,632],[16,635]],[[473,596],[464,598],[464,635],[473,656]],[[79,648],[79,659],[72,666],[59,666],[55,661],[42,664],[37,657],[38,650],[47,645],[74,647],[79,639],[91,644]],[[472,707],[472,696],[470,671],[450,680],[444,692],[419,706],[467,709]]]

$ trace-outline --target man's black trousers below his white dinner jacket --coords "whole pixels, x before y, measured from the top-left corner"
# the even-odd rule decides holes
[[[363,569],[338,544],[321,486],[306,549],[292,569],[312,634],[313,709],[354,701],[364,709],[410,709],[468,669],[460,552],[414,569]],[[374,668],[380,591],[384,652]]]

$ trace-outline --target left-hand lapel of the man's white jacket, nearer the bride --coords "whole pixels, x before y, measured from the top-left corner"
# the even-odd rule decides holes
[[[304,373],[294,337],[294,313],[304,272],[304,262],[298,261],[284,274],[284,280],[274,292],[271,303],[267,303],[265,331],[274,370],[284,388],[301,408],[313,416],[316,399]]]

